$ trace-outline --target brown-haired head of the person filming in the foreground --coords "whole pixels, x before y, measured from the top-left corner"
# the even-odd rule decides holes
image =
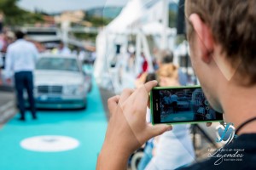
[[[255,0],[186,0],[192,65],[217,111],[223,87],[256,83],[255,8]]]

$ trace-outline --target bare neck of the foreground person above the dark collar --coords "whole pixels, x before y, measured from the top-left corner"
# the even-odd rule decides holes
[[[228,86],[223,88],[221,103],[224,109],[225,122],[241,126],[247,120],[256,117],[256,87]],[[256,133],[256,121],[249,122],[238,134]]]

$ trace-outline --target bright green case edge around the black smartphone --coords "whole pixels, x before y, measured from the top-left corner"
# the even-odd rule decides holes
[[[150,92],[150,105],[153,105],[153,95],[152,95],[152,91],[154,89],[156,90],[162,90],[162,89],[173,89],[173,88],[201,88],[201,86],[180,86],[180,87],[155,87],[151,90]],[[221,120],[216,120],[216,121],[201,121],[201,122],[172,122],[172,123],[166,123],[166,122],[162,122],[162,123],[154,123],[154,116],[153,116],[153,109],[150,109],[150,113],[151,113],[151,123],[152,125],[155,124],[169,124],[169,125],[175,125],[175,124],[198,124],[201,122],[222,122]]]

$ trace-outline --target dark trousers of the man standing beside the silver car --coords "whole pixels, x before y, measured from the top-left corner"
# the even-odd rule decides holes
[[[15,73],[15,88],[17,94],[18,105],[20,109],[20,116],[25,118],[25,99],[23,96],[24,89],[26,89],[32,116],[36,116],[35,99],[33,97],[33,75],[32,71],[20,71]]]

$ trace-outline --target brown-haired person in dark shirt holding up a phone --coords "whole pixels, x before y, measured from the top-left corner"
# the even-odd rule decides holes
[[[212,108],[224,113],[224,122],[234,123],[238,135],[224,150],[187,169],[256,169],[255,8],[255,0],[186,1],[195,73]],[[144,121],[148,92],[156,83],[148,82],[136,91],[126,89],[108,100],[111,117],[98,169],[125,169],[134,150],[172,128],[150,127]]]

